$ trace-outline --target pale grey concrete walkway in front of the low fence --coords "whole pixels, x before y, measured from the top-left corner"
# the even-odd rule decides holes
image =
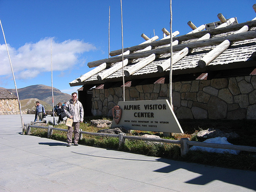
[[[52,118],[52,117],[47,117]],[[34,115],[23,115],[25,123]],[[22,135],[0,115],[0,191],[255,191],[256,172]]]

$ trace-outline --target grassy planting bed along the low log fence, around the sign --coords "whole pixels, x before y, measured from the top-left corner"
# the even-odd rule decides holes
[[[96,133],[102,128],[97,128],[92,126],[90,120],[92,119],[102,119],[99,117],[88,117],[85,123],[81,123],[80,129],[86,132]],[[107,118],[104,118],[107,119]],[[109,119],[111,120],[111,119]],[[164,139],[175,139],[180,140],[181,138],[189,138],[190,140],[197,141],[197,136],[195,133],[206,130],[208,128],[217,128],[226,132],[236,132],[240,135],[239,139],[233,139],[229,141],[236,145],[247,145],[256,146],[255,134],[256,125],[255,122],[250,121],[205,121],[201,122],[198,120],[191,121],[180,121],[182,129],[185,134],[172,134],[170,137],[164,137],[163,133],[158,132],[145,132],[145,131],[131,131],[130,134],[133,136],[141,136],[144,134],[158,135]],[[46,125],[48,126],[48,125]],[[67,129],[65,124],[58,124],[54,127],[60,129]],[[47,137],[47,130],[44,129],[31,129],[32,135],[39,137]],[[60,132],[53,130],[51,139],[67,141],[67,132]],[[189,151],[186,156],[181,157],[180,155],[180,145],[170,144],[170,143],[158,143],[158,142],[147,142],[139,140],[125,140],[125,143],[119,147],[118,138],[113,137],[96,137],[90,135],[84,135],[83,139],[79,140],[79,144],[96,146],[102,148],[109,148],[112,150],[120,150],[124,152],[131,152],[136,154],[142,154],[147,156],[154,156],[160,158],[167,158],[179,161],[200,163],[211,166],[219,166],[226,168],[236,168],[244,170],[254,170],[256,171],[256,154],[249,152],[241,152],[239,155],[231,154],[218,154],[209,153],[201,151]]]

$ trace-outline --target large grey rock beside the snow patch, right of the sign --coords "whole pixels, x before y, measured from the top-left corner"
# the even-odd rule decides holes
[[[205,138],[214,138],[214,137],[226,137],[228,139],[234,139],[234,138],[238,138],[239,135],[236,133],[225,133],[219,129],[207,129],[207,130],[203,130],[198,132],[197,137],[199,139],[205,139]]]

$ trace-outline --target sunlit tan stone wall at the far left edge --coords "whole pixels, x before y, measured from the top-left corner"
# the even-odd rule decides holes
[[[18,99],[0,99],[0,115],[20,114]]]

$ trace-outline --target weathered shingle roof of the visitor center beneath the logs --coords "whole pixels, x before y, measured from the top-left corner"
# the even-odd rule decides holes
[[[244,26],[248,26],[249,31],[244,31],[236,34],[236,32]],[[207,33],[210,34],[209,39],[199,39]],[[211,50],[214,50],[214,48],[216,48],[225,39],[228,39],[230,41],[230,45],[228,46],[228,48],[225,49],[219,56],[215,57],[212,61],[210,61],[209,64],[206,65],[206,67],[201,68],[198,65],[198,61],[201,60],[204,56],[212,54],[209,52]],[[181,58],[178,62],[174,63],[173,75],[201,72],[203,73],[208,71],[217,71],[224,69],[256,67],[256,20],[251,20],[246,23],[231,25],[220,29],[216,28],[209,31],[203,30],[192,34],[173,37],[173,41],[175,40],[179,40],[179,44],[173,46],[173,57],[184,47],[188,47],[190,52],[183,58]],[[148,55],[151,55],[153,53],[159,55],[159,53],[161,53],[158,58],[148,63],[145,67],[139,69],[134,74],[125,77],[125,80],[140,79],[145,77],[160,78],[164,75],[168,75],[169,68],[164,69],[163,72],[158,72],[157,68],[157,66],[161,65],[170,57],[170,53],[168,51],[168,43],[169,38],[163,38],[153,42],[145,43],[143,45],[125,48],[124,51],[130,50],[131,53],[129,55],[124,55],[124,59],[135,59],[132,62],[128,63],[128,65],[124,67],[124,70],[130,70],[136,65],[136,63],[145,59],[146,56]],[[149,51],[137,50],[138,48],[144,49],[147,46],[153,46],[153,49]],[[111,52],[111,55],[117,54],[120,54],[120,50]],[[88,63],[88,65],[93,64],[97,66],[99,65],[99,63],[111,63],[112,61],[114,61],[112,62],[110,67],[107,67],[106,69],[97,72],[95,75],[92,75],[87,79],[79,79],[78,77],[77,79],[70,82],[70,86],[82,86],[84,84],[99,84],[104,82],[120,81],[120,79],[122,78],[122,69],[119,69],[113,74],[110,74],[103,80],[97,78],[98,75],[101,75],[106,70],[110,68],[113,69],[116,65],[120,65],[118,64],[117,60],[120,62],[120,56],[113,56],[109,59],[107,58]]]

